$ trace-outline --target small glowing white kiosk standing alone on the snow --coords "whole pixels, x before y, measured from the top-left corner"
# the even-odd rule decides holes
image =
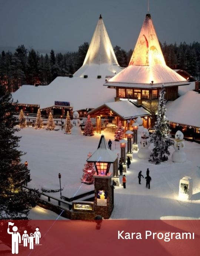
[[[190,199],[192,196],[193,181],[191,177],[184,176],[179,183],[179,198]]]

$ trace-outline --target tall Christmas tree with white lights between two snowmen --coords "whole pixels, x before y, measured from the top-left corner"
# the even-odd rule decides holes
[[[168,155],[170,155],[169,147],[173,145],[170,140],[170,126],[167,120],[166,113],[166,100],[165,100],[165,89],[164,85],[160,90],[159,106],[157,111],[157,120],[155,123],[155,131],[151,135],[150,142],[153,142],[154,148],[150,155],[150,162],[155,164],[160,164],[161,162],[168,160]]]

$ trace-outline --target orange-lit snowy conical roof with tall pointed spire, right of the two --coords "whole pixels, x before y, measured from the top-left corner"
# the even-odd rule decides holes
[[[116,83],[141,88],[157,87],[163,83],[164,86],[188,84],[166,65],[150,14],[146,14],[129,66],[105,85],[117,86]]]

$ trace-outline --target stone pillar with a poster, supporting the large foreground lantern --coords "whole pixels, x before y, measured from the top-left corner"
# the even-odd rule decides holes
[[[111,173],[94,175],[94,211],[96,215],[109,219],[114,207],[114,188],[111,186]]]

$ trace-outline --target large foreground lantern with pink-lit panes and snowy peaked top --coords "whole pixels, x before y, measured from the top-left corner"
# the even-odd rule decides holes
[[[87,162],[93,162],[97,175],[107,175],[109,173],[110,164],[114,163],[117,155],[109,150],[104,135],[101,135],[97,150],[87,159]]]

